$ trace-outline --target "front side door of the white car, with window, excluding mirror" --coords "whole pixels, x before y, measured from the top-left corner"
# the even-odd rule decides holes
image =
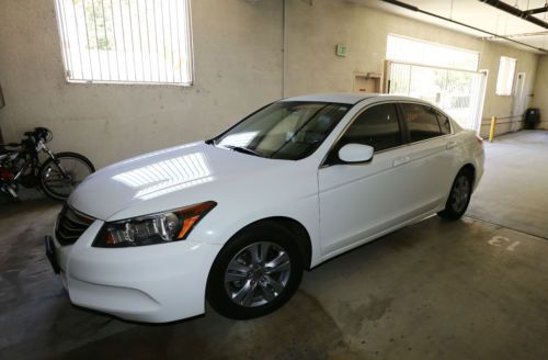
[[[346,144],[375,148],[369,162],[338,162]],[[322,255],[341,252],[357,241],[401,222],[413,194],[407,191],[409,161],[397,105],[384,103],[363,111],[332,148],[318,171]]]

